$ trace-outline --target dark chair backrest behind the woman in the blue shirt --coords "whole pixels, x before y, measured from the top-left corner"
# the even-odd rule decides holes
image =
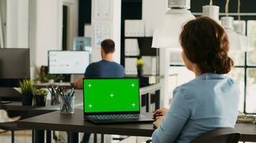
[[[196,137],[191,143],[237,143],[241,134],[233,128],[219,128]]]

